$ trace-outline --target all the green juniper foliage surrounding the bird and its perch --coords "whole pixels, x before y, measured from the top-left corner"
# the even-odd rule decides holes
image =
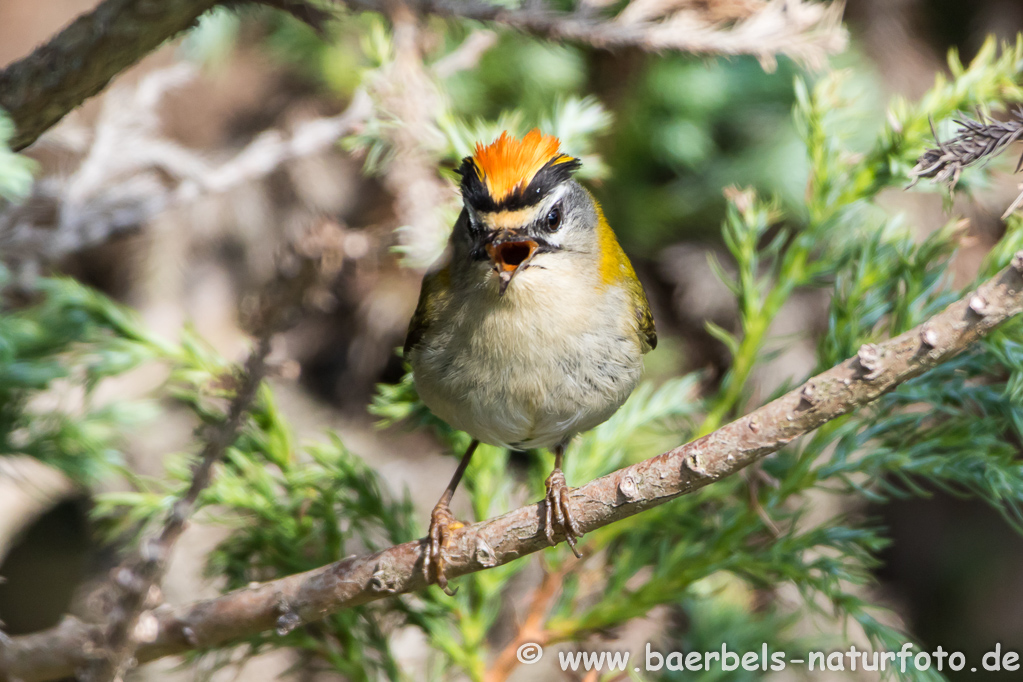
[[[381,54],[387,58],[386,50]],[[918,240],[878,198],[906,184],[931,141],[929,120],[1023,100],[1021,63],[1023,42],[999,50],[989,41],[969,66],[952,55],[950,79],[939,77],[919,102],[893,102],[880,126],[848,94],[847,74],[815,83],[797,79],[796,130],[808,158],[804,203],[765,199],[753,189],[727,193],[722,238],[735,274],[717,270],[736,298],[740,322],[732,329],[709,325],[708,331],[728,350],[730,369],[710,390],[699,375],[643,383],[608,422],[573,442],[568,480],[580,484],[684,443],[768,399],[758,395],[753,377],[785,343],[771,336],[771,324],[796,291],[819,291],[830,301],[827,329],[816,339],[817,370],[855,354],[863,343],[910,328],[959,298],[964,287],[947,275],[958,243],[954,224]],[[586,153],[607,126],[607,112],[584,100],[566,100],[561,113],[548,113],[555,127],[559,121],[582,122],[575,144]],[[517,128],[533,113],[517,116],[488,125],[453,112],[448,153],[456,157],[480,131]],[[2,179],[20,177],[17,169],[24,168],[0,149],[0,188],[16,191],[17,182],[5,185]],[[961,187],[969,189],[970,175],[983,172],[966,173]],[[978,277],[1023,247],[1021,228],[1018,217],[1009,220]],[[911,633],[893,625],[871,589],[885,529],[858,510],[866,501],[942,490],[984,500],[1023,531],[1023,468],[1017,458],[1023,439],[1021,325],[1006,325],[960,358],[825,424],[746,475],[587,535],[583,561],[564,546],[544,551],[538,559],[542,572],[560,581],[541,620],[544,641],[599,647],[631,621],[656,612],[667,619],[664,649],[712,650],[726,643],[745,651],[766,643],[798,657],[810,648],[845,648],[849,633],[876,649],[897,649]],[[154,394],[163,403],[94,401],[104,380],[147,363],[169,368]],[[68,279],[40,278],[29,292],[10,292],[0,317],[0,454],[35,455],[85,483],[128,476],[133,490],[97,495],[95,515],[107,537],[130,542],[160,522],[187,486],[194,453],[169,457],[167,478],[148,480],[124,466],[125,436],[167,409],[168,401],[190,410],[196,423],[223,419],[231,389],[222,377],[229,368],[190,332],[169,343],[102,295]],[[70,391],[80,397],[74,405],[47,400]],[[381,387],[372,409],[388,423],[431,429],[452,452],[466,444],[464,434],[429,414],[407,376]],[[550,464],[547,453],[521,457],[481,447],[464,482],[473,515],[490,517],[538,497]],[[419,537],[426,520],[339,435],[297,442],[268,387],[201,505],[205,521],[228,531],[207,565],[224,590]],[[514,599],[538,586],[535,561],[461,578],[452,598],[430,588],[319,623],[282,627],[241,646],[247,655],[291,647],[308,665],[353,680],[480,680],[507,640],[498,630],[514,621]],[[841,627],[808,637],[798,627],[808,618]],[[402,665],[395,650],[397,635],[409,630],[429,644],[426,674]],[[232,653],[207,655],[220,665]],[[663,675],[681,679],[680,673]],[[684,675],[753,680],[763,673]],[[941,679],[934,669],[910,670],[904,677]]]

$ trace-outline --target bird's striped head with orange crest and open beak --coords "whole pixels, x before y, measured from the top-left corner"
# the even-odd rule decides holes
[[[452,240],[456,253],[497,280],[501,294],[528,268],[550,268],[570,256],[582,267],[598,260],[597,208],[572,179],[579,165],[538,129],[521,140],[505,132],[489,145],[477,143],[462,160],[464,210]]]

